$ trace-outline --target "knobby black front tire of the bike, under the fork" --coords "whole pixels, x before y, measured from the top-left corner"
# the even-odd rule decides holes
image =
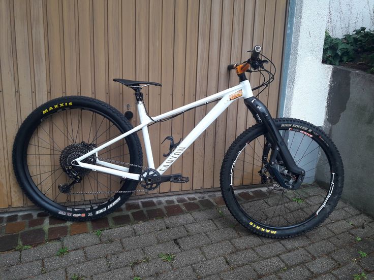
[[[311,142],[315,141],[326,154],[326,157],[329,161],[329,168],[331,172],[334,173],[334,176],[331,175],[330,186],[327,187],[326,193],[327,196],[330,196],[327,199],[326,205],[321,205],[319,211],[314,215],[311,215],[309,217],[310,219],[306,219],[303,223],[299,223],[298,225],[295,224],[296,226],[293,227],[284,228],[259,223],[256,219],[251,217],[251,215],[248,215],[248,213],[246,213],[247,210],[239,201],[240,197],[238,198],[238,196],[234,193],[234,187],[231,186],[231,184],[233,184],[232,173],[234,173],[234,161],[238,158],[239,154],[244,149],[243,147],[245,147],[247,143],[253,141],[253,139],[259,137],[259,135],[263,135],[266,132],[265,127],[261,123],[256,124],[253,127],[250,127],[242,132],[232,143],[222,163],[220,182],[225,203],[230,213],[241,225],[258,235],[271,238],[288,238],[310,231],[311,229],[320,225],[330,215],[330,213],[336,206],[342,192],[344,182],[344,168],[336,146],[333,144],[331,139],[329,139],[326,133],[324,133],[324,131],[322,131],[320,128],[305,121],[291,118],[275,119],[274,121],[278,129],[296,130],[303,134],[306,133],[306,138],[309,137],[311,139]],[[265,198],[263,198],[263,200],[265,200]],[[297,201],[297,203],[299,202]],[[258,202],[257,205],[259,204],[260,202]]]

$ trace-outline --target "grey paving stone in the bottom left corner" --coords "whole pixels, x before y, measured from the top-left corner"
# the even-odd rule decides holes
[[[18,264],[15,266],[7,266],[3,268],[2,276],[3,279],[18,280],[26,277],[35,276],[42,272],[42,260],[35,262],[28,262],[24,264]]]

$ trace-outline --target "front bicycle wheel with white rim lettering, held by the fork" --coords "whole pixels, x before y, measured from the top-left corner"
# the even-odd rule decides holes
[[[256,234],[287,238],[321,224],[333,211],[344,171],[335,145],[318,127],[296,119],[276,119],[296,164],[305,170],[298,189],[281,187],[263,164],[266,128],[257,124],[230,146],[221,168],[221,189],[231,214]],[[283,161],[274,163],[285,182],[293,180]]]

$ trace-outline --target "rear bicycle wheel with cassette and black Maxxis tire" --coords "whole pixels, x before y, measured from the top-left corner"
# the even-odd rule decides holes
[[[130,129],[132,125],[119,111],[100,100],[66,96],[48,101],[25,119],[16,135],[13,167],[18,183],[32,202],[60,219],[105,216],[130,197],[137,182],[71,162]],[[94,165],[99,161],[106,166],[128,163],[123,170],[140,173],[142,149],[137,134],[83,160]]]

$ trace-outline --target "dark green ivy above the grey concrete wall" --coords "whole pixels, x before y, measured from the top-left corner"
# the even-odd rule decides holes
[[[322,61],[332,65],[365,63],[370,67],[369,72],[374,74],[374,31],[361,27],[341,39],[331,37],[326,31]]]

